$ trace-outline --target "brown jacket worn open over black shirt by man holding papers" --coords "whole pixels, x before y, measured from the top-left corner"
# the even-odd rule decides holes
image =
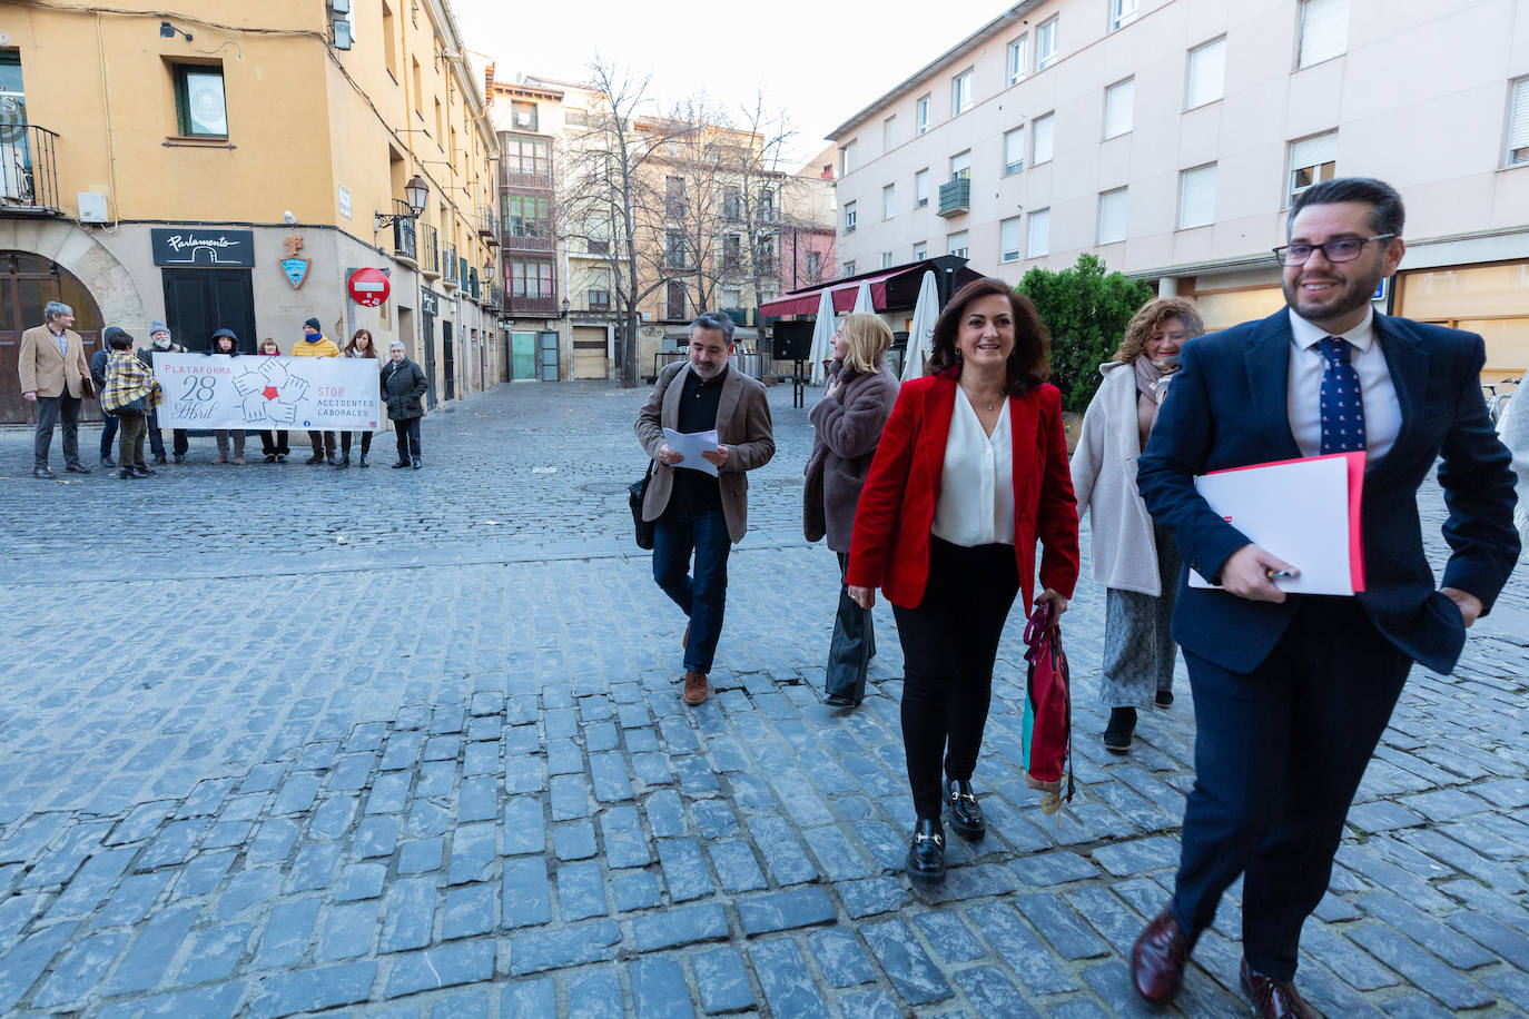
[[[642,498],[642,519],[657,519],[674,492],[674,467],[657,463],[664,429],[679,431],[679,397],[685,390],[683,373],[690,361],[665,367],[638,411],[638,442],[653,458],[653,480]],[[722,515],[734,544],[749,530],[749,480],[746,472],[763,467],[775,455],[775,432],[769,417],[764,385],[737,368],[728,368],[717,400],[717,443],[728,448],[728,463],[717,477],[722,487]]]

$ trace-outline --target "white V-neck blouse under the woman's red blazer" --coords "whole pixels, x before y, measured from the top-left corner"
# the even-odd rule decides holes
[[[966,391],[956,387],[945,471],[934,506],[936,538],[953,545],[1014,544],[1014,431],[1003,397],[992,435],[982,429]]]

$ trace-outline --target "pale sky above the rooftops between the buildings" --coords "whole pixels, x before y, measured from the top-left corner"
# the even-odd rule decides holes
[[[653,72],[653,112],[705,89],[737,110],[763,86],[797,128],[794,165],[823,136],[976,32],[1014,0],[451,0],[469,50],[517,73],[584,81],[590,58]]]

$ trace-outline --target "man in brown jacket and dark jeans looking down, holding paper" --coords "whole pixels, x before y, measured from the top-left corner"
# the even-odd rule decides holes
[[[706,674],[728,599],[728,553],[748,532],[749,483],[743,472],[775,455],[764,387],[728,367],[732,351],[732,319],[700,315],[690,327],[690,357],[659,373],[638,414],[638,442],[657,461],[642,501],[642,518],[656,521],[653,579],[690,617],[687,704],[706,700]],[[717,429],[716,451],[700,454],[717,472],[676,469],[683,457],[664,442],[665,428]]]

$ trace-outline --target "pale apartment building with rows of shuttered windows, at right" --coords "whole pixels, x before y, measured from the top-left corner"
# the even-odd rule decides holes
[[[836,128],[844,275],[943,254],[1017,283],[1096,252],[1226,327],[1283,304],[1290,197],[1407,202],[1378,307],[1529,365],[1529,5],[1026,0]]]

